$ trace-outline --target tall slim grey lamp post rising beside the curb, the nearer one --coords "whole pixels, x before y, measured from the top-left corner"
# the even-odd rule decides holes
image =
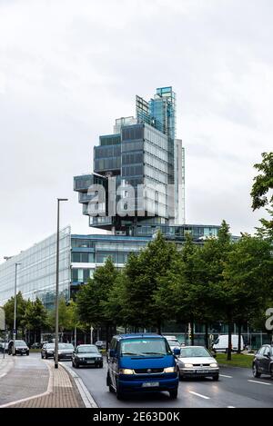
[[[55,368],[58,368],[59,342],[59,233],[60,233],[60,202],[67,198],[57,198],[57,233],[56,233],[56,302],[55,302]]]

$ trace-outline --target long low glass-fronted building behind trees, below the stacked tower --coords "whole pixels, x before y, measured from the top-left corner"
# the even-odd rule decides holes
[[[60,232],[60,294],[69,301],[79,286],[93,276],[98,266],[111,257],[117,268],[122,268],[130,253],[139,253],[153,234],[160,229],[167,240],[182,245],[186,233],[196,243],[204,237],[217,235],[217,226],[204,225],[136,225],[132,235],[82,235],[71,233],[70,226]],[[0,306],[15,294],[15,263],[17,266],[17,292],[25,299],[41,299],[47,308],[55,303],[56,292],[56,234],[0,264]]]

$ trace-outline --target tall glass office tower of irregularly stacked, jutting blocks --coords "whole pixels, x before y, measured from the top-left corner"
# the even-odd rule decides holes
[[[176,139],[172,87],[157,88],[149,102],[136,96],[136,118],[117,119],[114,132],[99,137],[86,186],[79,185],[82,176],[74,179],[90,226],[126,234],[136,223],[185,223],[184,148]],[[95,175],[106,190],[99,200],[90,186]]]

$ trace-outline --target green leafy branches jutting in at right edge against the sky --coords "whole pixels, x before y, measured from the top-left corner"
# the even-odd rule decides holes
[[[262,162],[254,164],[258,175],[254,178],[251,190],[253,211],[266,207],[270,219],[260,219],[262,226],[258,228],[258,234],[273,240],[273,153],[263,153]]]

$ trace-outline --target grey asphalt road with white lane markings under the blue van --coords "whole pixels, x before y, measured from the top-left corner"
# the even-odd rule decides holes
[[[67,362],[71,366],[71,362]],[[103,369],[94,367],[73,369],[84,381],[99,407],[109,408],[198,408],[198,407],[273,407],[273,381],[269,377],[254,379],[252,372],[243,368],[222,367],[219,381],[211,379],[179,382],[177,400],[170,400],[167,392],[126,396],[117,401],[115,393],[106,386],[106,361]]]

